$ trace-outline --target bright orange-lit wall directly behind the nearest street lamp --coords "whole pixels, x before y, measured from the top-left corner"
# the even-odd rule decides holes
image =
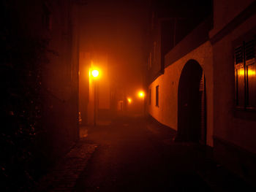
[[[91,72],[97,69],[99,75]],[[80,52],[79,111],[82,125],[94,124],[94,107],[97,120],[110,114],[110,80],[108,55],[105,53]],[[96,93],[96,96],[94,94]],[[95,102],[96,99],[96,102]]]

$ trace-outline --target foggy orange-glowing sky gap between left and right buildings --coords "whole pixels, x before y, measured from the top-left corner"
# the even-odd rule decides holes
[[[80,9],[80,49],[107,53],[110,80],[142,86],[149,1],[88,1]]]

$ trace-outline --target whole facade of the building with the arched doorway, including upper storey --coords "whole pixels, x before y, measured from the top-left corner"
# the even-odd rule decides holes
[[[152,10],[148,34],[148,113],[176,130],[177,140],[212,146],[213,112],[212,107],[206,107],[212,106],[208,97],[213,91],[212,47],[208,38],[211,4],[204,5],[207,11],[197,7],[195,18],[189,17],[193,12],[182,5],[177,11],[165,8],[165,12],[155,7],[162,10],[171,4],[154,5]],[[192,130],[195,123],[197,130]]]

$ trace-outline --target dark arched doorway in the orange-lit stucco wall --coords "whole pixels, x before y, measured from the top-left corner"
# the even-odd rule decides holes
[[[206,144],[206,83],[203,69],[189,60],[178,82],[177,141]]]

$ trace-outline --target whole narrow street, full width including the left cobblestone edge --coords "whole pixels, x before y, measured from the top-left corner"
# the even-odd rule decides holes
[[[42,180],[37,191],[249,188],[211,161],[210,152],[206,153],[208,150],[203,146],[173,142],[175,133],[170,128],[159,127],[143,118],[120,118],[102,126],[83,127],[80,136],[80,142]]]

